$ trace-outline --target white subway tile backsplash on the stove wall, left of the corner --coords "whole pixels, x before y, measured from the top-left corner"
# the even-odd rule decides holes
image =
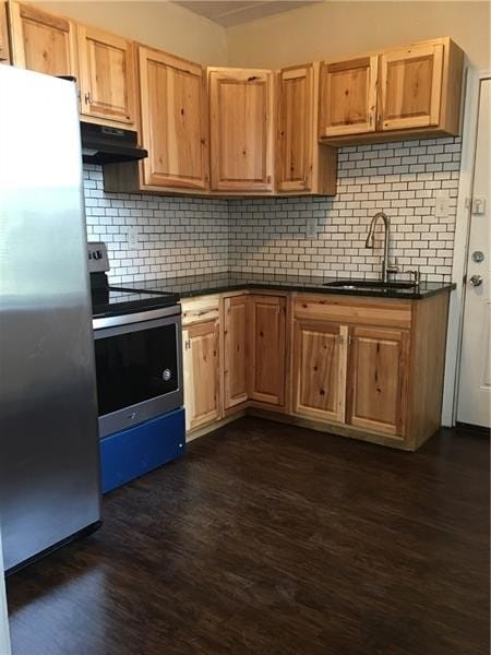
[[[88,239],[107,243],[113,284],[228,269],[228,202],[105,193],[100,167],[84,166]],[[139,228],[137,248],[128,229]]]

